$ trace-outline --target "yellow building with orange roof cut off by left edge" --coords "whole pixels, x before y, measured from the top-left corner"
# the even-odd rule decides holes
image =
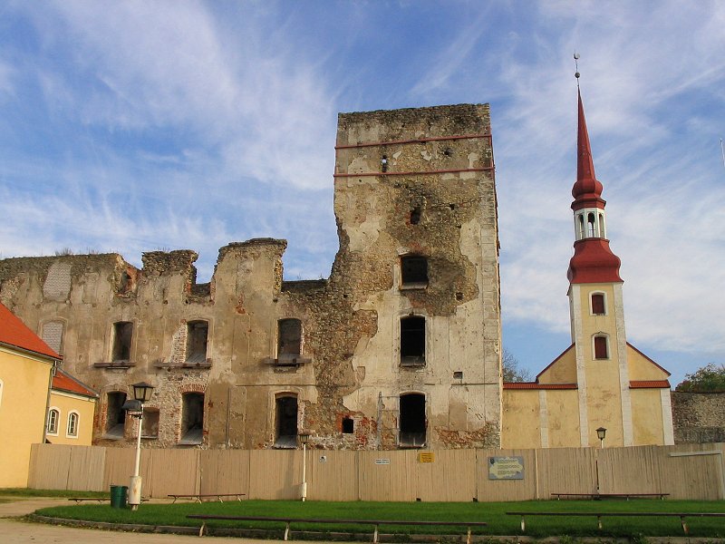
[[[0,487],[25,487],[31,444],[43,442],[56,354],[0,304]]]

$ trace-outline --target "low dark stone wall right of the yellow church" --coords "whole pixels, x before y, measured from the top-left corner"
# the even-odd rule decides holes
[[[674,443],[725,442],[725,392],[671,395]]]

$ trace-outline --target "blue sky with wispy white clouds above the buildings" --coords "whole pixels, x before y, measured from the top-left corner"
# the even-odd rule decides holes
[[[725,3],[297,1],[0,6],[0,257],[286,238],[337,249],[337,112],[489,102],[504,345],[570,343],[579,69],[628,339],[672,384],[725,362]]]

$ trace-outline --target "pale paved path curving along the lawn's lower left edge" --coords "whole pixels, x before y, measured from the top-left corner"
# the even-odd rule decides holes
[[[198,537],[186,535],[156,535],[146,533],[127,533],[99,529],[76,529],[45,523],[29,523],[14,519],[39,508],[67,505],[66,499],[28,499],[0,503],[0,542],[3,544],[79,544],[82,542],[103,542],[103,544],[223,544],[224,542],[269,544],[274,540],[232,539],[225,537]],[[326,544],[317,542],[316,544]],[[328,543],[332,544],[332,543]],[[336,543],[336,544],[339,544]]]

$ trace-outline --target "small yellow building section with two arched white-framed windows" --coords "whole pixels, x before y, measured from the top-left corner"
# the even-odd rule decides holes
[[[90,446],[98,393],[58,369],[48,407],[45,442]]]

